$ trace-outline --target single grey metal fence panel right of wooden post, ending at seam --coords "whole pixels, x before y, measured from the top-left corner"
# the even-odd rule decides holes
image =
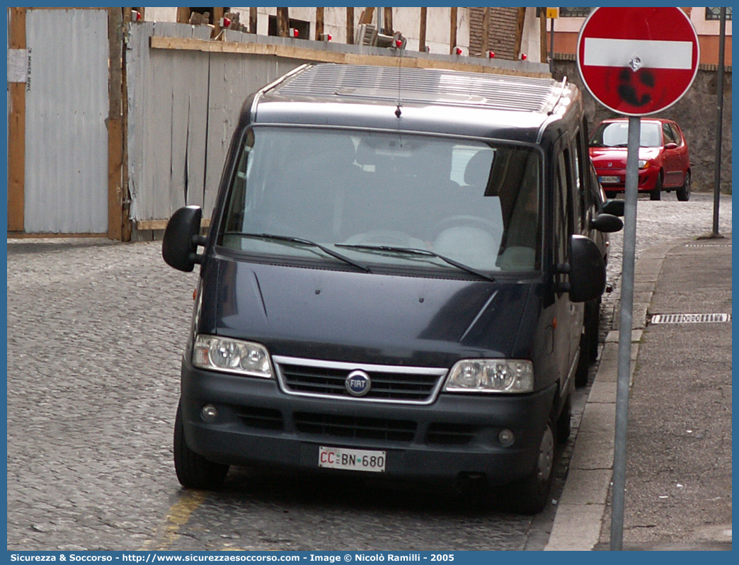
[[[210,33],[152,22],[131,27],[126,71],[134,220],[165,219],[185,204],[202,205],[208,54],[149,50],[149,37],[204,38],[205,30]]]

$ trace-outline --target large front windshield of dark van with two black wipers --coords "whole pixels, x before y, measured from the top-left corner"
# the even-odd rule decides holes
[[[259,126],[239,149],[219,241],[372,272],[535,271],[540,177],[539,153],[520,146]]]

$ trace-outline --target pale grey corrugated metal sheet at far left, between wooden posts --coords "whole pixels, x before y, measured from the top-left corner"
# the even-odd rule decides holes
[[[107,10],[28,10],[28,233],[108,230]]]

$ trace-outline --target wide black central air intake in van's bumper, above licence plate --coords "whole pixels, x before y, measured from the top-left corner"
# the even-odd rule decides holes
[[[335,416],[297,412],[293,415],[296,430],[336,438],[378,439],[409,442],[415,436],[415,422],[357,416]]]

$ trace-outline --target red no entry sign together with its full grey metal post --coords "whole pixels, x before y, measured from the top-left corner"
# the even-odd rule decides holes
[[[680,8],[671,7],[596,8],[582,25],[576,53],[580,76],[590,94],[613,112],[629,116],[610,521],[610,549],[620,551],[624,537],[640,116],[672,106],[687,92],[698,72],[700,53],[698,34],[690,19]]]

